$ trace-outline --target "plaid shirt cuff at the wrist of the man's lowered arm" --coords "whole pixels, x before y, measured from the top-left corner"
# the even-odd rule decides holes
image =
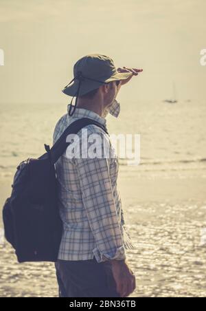
[[[124,260],[126,259],[125,248],[124,246],[120,246],[119,248],[115,248],[107,253],[100,253],[98,248],[93,249],[93,254],[95,255],[95,259],[98,263],[106,261],[106,260]]]

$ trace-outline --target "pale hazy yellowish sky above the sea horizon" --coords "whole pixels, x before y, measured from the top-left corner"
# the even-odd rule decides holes
[[[106,54],[143,68],[122,100],[206,98],[205,0],[0,0],[0,103],[65,103],[73,64]]]

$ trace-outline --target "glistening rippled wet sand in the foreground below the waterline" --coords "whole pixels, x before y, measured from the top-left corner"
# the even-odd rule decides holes
[[[200,177],[201,176],[201,177]],[[203,171],[138,173],[120,168],[119,191],[126,224],[137,250],[128,264],[137,288],[130,297],[205,297],[206,176]],[[0,203],[10,195],[0,181]],[[57,297],[54,264],[17,264],[12,248],[0,246],[1,297]]]

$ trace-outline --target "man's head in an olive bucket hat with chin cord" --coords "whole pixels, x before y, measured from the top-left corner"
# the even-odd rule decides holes
[[[78,107],[100,105],[102,111],[111,105],[117,96],[117,81],[127,79],[130,72],[117,72],[113,59],[108,56],[89,54],[76,62],[73,76],[73,80],[62,90],[69,96],[76,96],[73,111],[77,103]],[[70,113],[69,110],[71,116]]]

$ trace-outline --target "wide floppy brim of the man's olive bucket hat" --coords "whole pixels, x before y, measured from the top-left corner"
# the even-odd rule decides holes
[[[98,80],[106,83],[111,81],[126,80],[131,74],[131,72],[118,72],[117,74],[113,74],[113,76],[110,76],[109,78],[101,78]],[[104,83],[98,81],[91,81],[86,79],[80,86],[79,96],[83,96],[84,94],[93,91],[93,89],[98,89],[98,87],[103,84]],[[76,96],[78,91],[78,85],[79,82],[77,80],[74,80],[73,83],[62,89],[62,92],[68,96]]]

